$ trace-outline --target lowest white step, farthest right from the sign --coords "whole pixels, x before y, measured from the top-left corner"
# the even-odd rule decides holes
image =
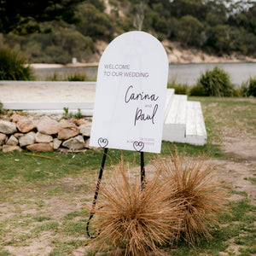
[[[205,145],[207,130],[200,102],[187,102],[186,143]]]

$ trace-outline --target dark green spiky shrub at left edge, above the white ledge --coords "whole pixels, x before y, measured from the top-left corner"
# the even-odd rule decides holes
[[[18,52],[0,49],[0,80],[32,80],[32,67]]]

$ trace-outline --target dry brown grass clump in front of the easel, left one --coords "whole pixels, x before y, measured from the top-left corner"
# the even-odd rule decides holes
[[[166,184],[159,185],[159,172],[141,189],[140,178],[134,181],[125,175],[123,160],[115,171],[100,189],[102,199],[95,210],[98,220],[93,224],[101,230],[96,244],[125,244],[125,255],[156,253],[156,244],[162,245],[176,236],[183,202],[167,200],[172,191],[166,193]]]

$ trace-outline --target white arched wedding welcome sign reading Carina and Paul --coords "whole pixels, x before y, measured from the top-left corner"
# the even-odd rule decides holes
[[[168,59],[146,32],[126,32],[102,54],[90,146],[160,153]]]

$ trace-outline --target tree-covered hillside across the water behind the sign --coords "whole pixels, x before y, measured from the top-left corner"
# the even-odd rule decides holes
[[[98,61],[100,45],[142,30],[209,55],[256,57],[256,2],[235,0],[1,0],[0,47],[31,62]]]

